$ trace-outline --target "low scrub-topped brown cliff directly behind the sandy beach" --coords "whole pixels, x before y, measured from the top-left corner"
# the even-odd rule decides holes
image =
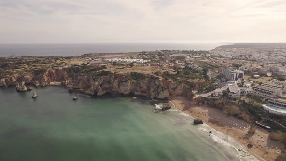
[[[193,102],[200,105],[207,105],[209,107],[221,109],[223,114],[235,116],[238,119],[245,120],[249,123],[253,123],[255,119],[245,107],[235,101],[227,100],[225,98],[214,99],[208,97],[199,97],[194,99]]]

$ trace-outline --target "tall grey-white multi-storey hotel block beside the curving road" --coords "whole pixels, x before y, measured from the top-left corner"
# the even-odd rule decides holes
[[[241,70],[233,69],[233,67],[222,68],[222,75],[224,78],[233,81],[243,81],[244,72]]]

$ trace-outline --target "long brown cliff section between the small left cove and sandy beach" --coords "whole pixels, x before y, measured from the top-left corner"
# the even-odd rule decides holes
[[[140,75],[131,78],[130,74],[109,74],[107,76],[82,75],[73,78],[68,88],[89,95],[104,94],[141,95],[152,98],[168,98],[170,96],[190,97],[191,90],[175,82]]]

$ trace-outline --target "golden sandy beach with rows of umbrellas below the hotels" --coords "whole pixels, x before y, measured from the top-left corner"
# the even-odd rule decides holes
[[[220,109],[192,105],[190,100],[182,97],[174,97],[171,101],[182,112],[194,118],[199,118],[215,130],[232,137],[250,154],[261,161],[275,161],[284,148],[283,143],[271,140],[268,137],[270,133],[260,127],[256,127],[254,134],[247,134],[251,124],[225,115]],[[248,143],[252,143],[253,147],[247,148]]]

